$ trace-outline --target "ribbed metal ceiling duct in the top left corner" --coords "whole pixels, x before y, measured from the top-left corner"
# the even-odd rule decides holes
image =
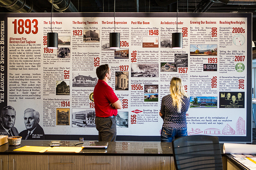
[[[5,7],[11,12],[43,12],[43,10],[35,6],[31,0],[0,0],[0,7]]]

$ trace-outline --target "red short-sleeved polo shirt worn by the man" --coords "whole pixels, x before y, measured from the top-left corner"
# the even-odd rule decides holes
[[[110,103],[115,103],[119,100],[114,90],[103,80],[98,80],[94,91],[94,106],[97,117],[110,117],[117,115],[117,109],[110,106]]]

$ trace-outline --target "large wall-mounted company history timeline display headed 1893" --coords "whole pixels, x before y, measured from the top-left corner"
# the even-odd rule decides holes
[[[116,13],[115,23],[113,16],[58,13],[51,22],[45,13],[1,14],[0,104],[16,111],[10,126],[24,134],[37,125],[32,139],[97,136],[96,68],[108,64],[109,85],[123,106],[116,117],[120,140],[160,141],[161,98],[172,77],[189,95],[188,135],[252,140],[252,14],[179,13],[178,23],[176,13]],[[51,27],[58,49],[47,49]],[[180,50],[171,48],[176,27]],[[114,29],[116,50],[109,48]],[[39,119],[27,120],[32,113]]]

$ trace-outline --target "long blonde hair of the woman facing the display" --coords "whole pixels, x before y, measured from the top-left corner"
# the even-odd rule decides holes
[[[173,106],[177,106],[178,113],[181,113],[182,99],[188,97],[187,92],[184,89],[182,80],[177,77],[173,77],[170,82],[170,94],[172,96]]]

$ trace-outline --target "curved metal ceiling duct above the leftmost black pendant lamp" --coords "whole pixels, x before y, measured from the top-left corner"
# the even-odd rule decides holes
[[[48,0],[52,3],[52,0]],[[53,0],[53,8],[59,12],[78,12],[70,0]]]

